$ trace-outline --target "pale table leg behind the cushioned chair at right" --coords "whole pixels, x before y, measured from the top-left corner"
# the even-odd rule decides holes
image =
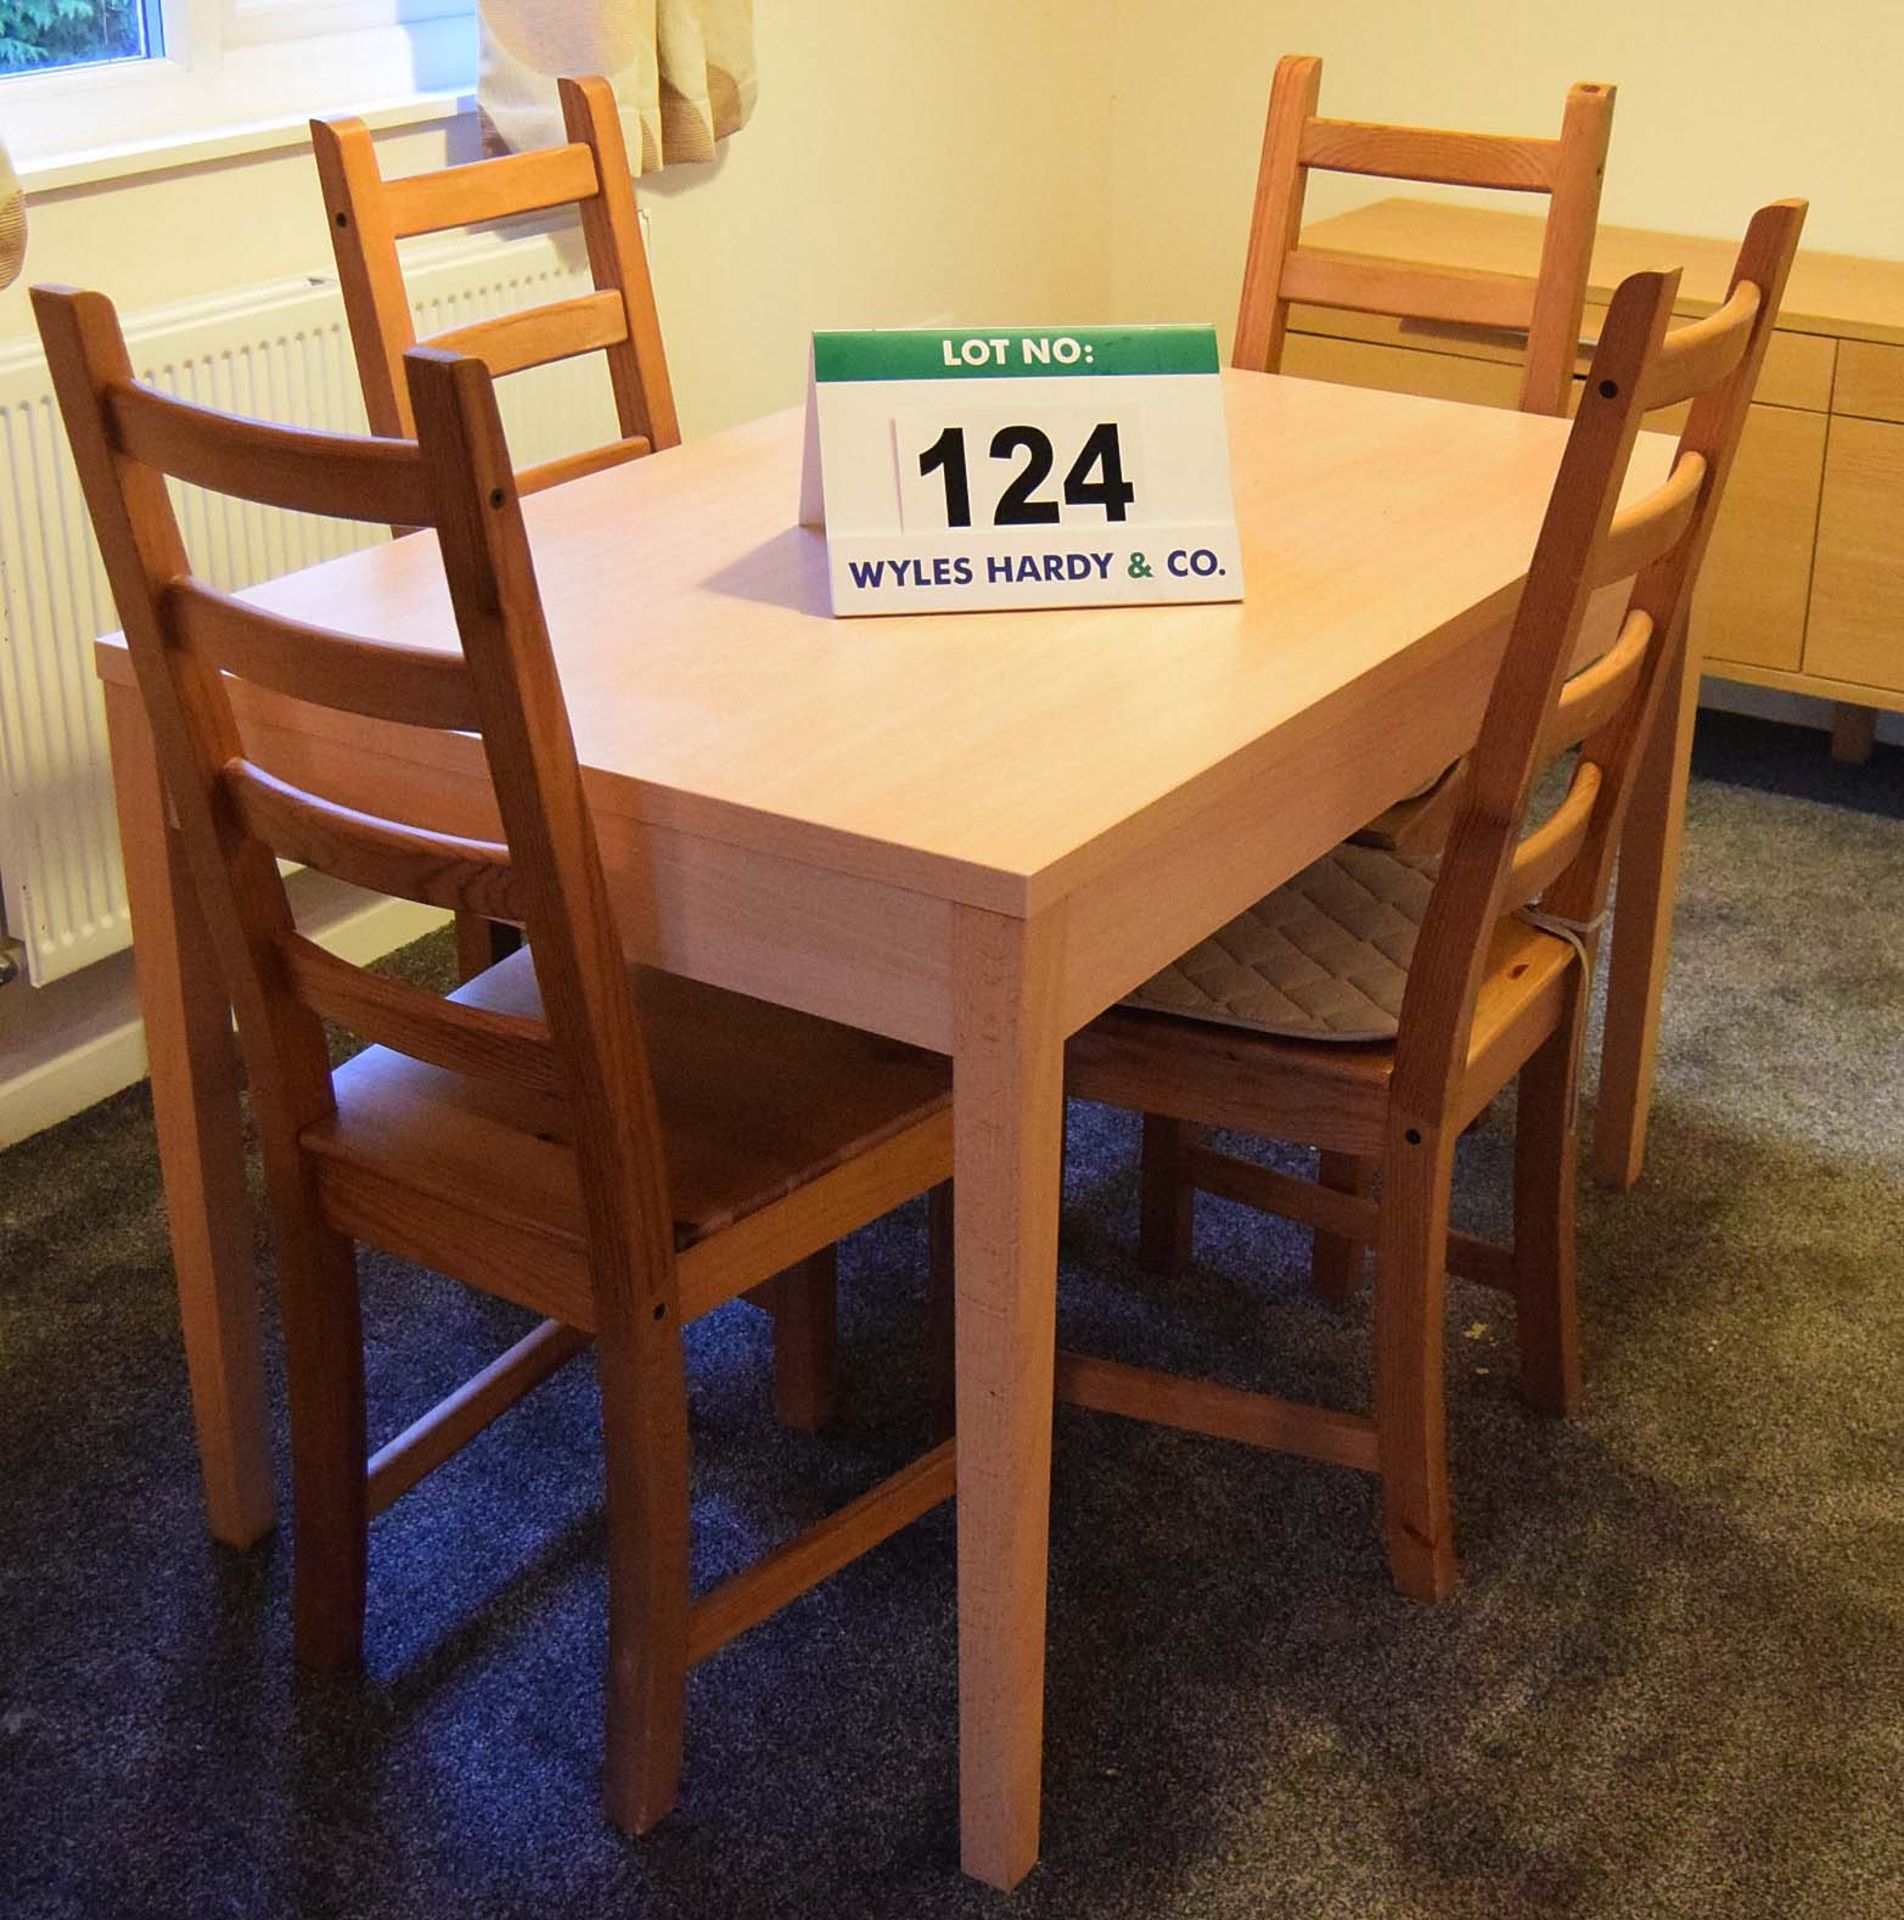
[[[1660,996],[1666,991],[1672,910],[1679,891],[1685,781],[1699,714],[1699,653],[1689,639],[1681,660],[1681,670],[1662,689],[1653,739],[1633,780],[1633,799],[1620,839],[1612,958],[1606,970],[1606,1031],[1601,1039],[1601,1089],[1593,1110],[1593,1175],[1605,1187],[1631,1187],[1647,1156]]]

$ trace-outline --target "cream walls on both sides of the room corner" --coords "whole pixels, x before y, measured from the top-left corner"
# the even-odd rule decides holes
[[[758,0],[758,33],[754,123],[643,186],[689,432],[791,401],[814,324],[1167,317],[1226,338],[1286,50],[1328,60],[1345,117],[1534,131],[1570,81],[1610,79],[1608,219],[1726,234],[1802,192],[1808,244],[1904,253],[1896,0]],[[409,171],[472,136],[380,146]],[[1313,204],[1370,192],[1321,182]],[[127,311],[326,259],[307,150],[33,204],[29,276]],[[0,340],[29,330],[25,290],[0,294]]]

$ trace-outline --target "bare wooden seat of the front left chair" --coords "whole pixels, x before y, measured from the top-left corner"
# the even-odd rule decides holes
[[[651,968],[630,970],[630,991],[649,1044],[679,1252],[950,1110],[950,1064],[939,1054]],[[539,1016],[530,950],[451,998]],[[344,1062],[334,1087],[336,1114],[307,1129],[305,1144],[324,1164],[326,1204],[344,1231],[591,1325],[582,1181],[559,1102],[384,1046]],[[944,1160],[940,1179],[952,1173],[950,1129]],[[449,1244],[424,1244],[445,1233],[411,1225],[430,1210],[399,1213],[403,1192],[463,1223]],[[543,1271],[499,1284],[511,1258]]]

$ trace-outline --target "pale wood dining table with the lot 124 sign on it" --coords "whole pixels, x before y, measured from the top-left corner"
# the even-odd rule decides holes
[[[837,620],[798,409],[522,501],[628,954],[952,1060],[960,1839],[996,1887],[1040,1843],[1065,1039],[1472,745],[1568,432],[1221,378],[1230,603]],[[1630,484],[1668,457],[1643,436]],[[457,645],[428,532],[248,597]],[[274,1494],[230,1008],[119,639],[98,668],[207,1509],[248,1546]],[[1658,995],[1695,672],[1622,852],[1610,1050]],[[468,735],[238,707],[286,778],[484,816]],[[1647,1073],[1622,1089],[1601,1125],[1643,1117]]]

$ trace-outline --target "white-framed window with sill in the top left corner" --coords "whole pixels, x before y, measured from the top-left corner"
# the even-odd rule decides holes
[[[0,127],[29,186],[35,165],[474,81],[474,0],[0,0]]]

